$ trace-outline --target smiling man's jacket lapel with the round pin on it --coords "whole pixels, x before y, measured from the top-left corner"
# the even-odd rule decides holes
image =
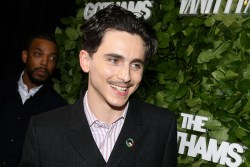
[[[133,102],[129,104],[128,113],[125,118],[121,133],[115,143],[113,151],[107,162],[107,166],[119,166],[121,160],[133,151],[137,142],[146,132],[147,127],[143,125],[140,110],[136,109]],[[132,139],[132,140],[131,140]],[[128,146],[126,142],[132,141],[132,146]]]

